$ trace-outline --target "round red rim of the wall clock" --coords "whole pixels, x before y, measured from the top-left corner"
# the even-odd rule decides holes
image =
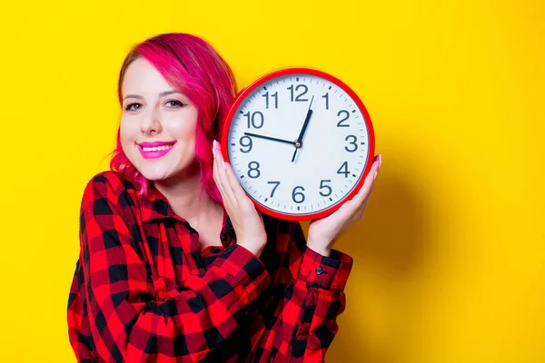
[[[365,177],[370,172],[372,167],[372,158],[374,156],[374,150],[375,150],[375,138],[374,138],[374,130],[372,127],[371,117],[369,116],[369,113],[367,112],[367,109],[362,103],[362,100],[360,100],[360,97],[352,91],[352,88],[350,88],[346,83],[343,83],[340,79],[332,76],[331,74],[324,73],[322,71],[318,71],[316,69],[312,68],[284,68],[278,71],[274,71],[270,74],[265,74],[261,78],[257,79],[253,83],[251,83],[248,87],[244,88],[240,93],[238,93],[234,99],[234,102],[229,110],[229,113],[227,114],[227,117],[225,118],[224,124],[223,124],[223,135],[222,135],[222,153],[223,153],[223,159],[231,162],[229,160],[229,155],[227,152],[227,143],[229,138],[229,129],[231,127],[231,123],[233,122],[233,117],[236,113],[236,110],[240,106],[241,103],[243,103],[246,96],[253,92],[256,88],[263,85],[263,83],[270,82],[272,79],[277,77],[282,77],[285,75],[290,74],[309,74],[314,75],[318,77],[322,77],[331,83],[336,84],[342,90],[344,90],[346,93],[348,93],[352,100],[357,104],[358,108],[362,111],[362,114],[365,119],[365,123],[367,125],[367,130],[369,132],[369,140],[368,140],[368,154],[367,154],[367,163],[365,165],[365,169],[362,173],[362,177],[360,180],[356,183],[352,191],[347,194],[341,201],[338,201],[336,204],[332,205],[330,208],[327,208],[323,211],[313,212],[313,213],[307,213],[307,214],[299,214],[299,215],[293,215],[289,213],[282,213],[279,211],[273,211],[265,206],[263,206],[260,202],[254,201],[252,197],[249,196],[249,198],[253,201],[253,204],[255,205],[255,208],[258,211],[263,211],[263,213],[271,215],[273,217],[282,219],[282,220],[289,220],[289,221],[311,221],[320,219],[322,217],[326,217],[332,212],[337,211],[339,208],[341,208],[342,204],[344,204],[346,201],[350,201],[354,195],[358,193],[362,189],[363,182],[365,182]]]

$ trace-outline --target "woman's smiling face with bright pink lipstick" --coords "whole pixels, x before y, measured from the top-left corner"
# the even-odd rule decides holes
[[[148,181],[190,172],[195,161],[197,109],[144,57],[130,64],[122,83],[123,151]]]

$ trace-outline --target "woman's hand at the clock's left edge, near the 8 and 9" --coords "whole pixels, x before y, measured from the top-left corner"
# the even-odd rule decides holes
[[[267,242],[262,217],[236,179],[231,165],[223,161],[220,143],[215,140],[212,152],[213,180],[222,194],[223,207],[233,223],[237,244],[259,257]]]

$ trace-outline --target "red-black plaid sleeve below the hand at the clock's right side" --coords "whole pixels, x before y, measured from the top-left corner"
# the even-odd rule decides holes
[[[346,306],[344,287],[353,260],[338,250],[326,257],[308,248],[299,222],[290,223],[288,231],[285,258],[294,280],[284,292],[281,323],[274,328],[273,361],[322,362]]]

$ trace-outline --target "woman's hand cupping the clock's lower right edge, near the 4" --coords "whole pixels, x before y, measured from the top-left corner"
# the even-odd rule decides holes
[[[356,221],[360,221],[365,213],[367,202],[371,198],[374,181],[381,167],[382,156],[374,158],[371,171],[367,174],[362,189],[352,198],[342,204],[339,210],[320,220],[311,222],[307,238],[307,246],[323,256],[329,256],[333,243]]]

